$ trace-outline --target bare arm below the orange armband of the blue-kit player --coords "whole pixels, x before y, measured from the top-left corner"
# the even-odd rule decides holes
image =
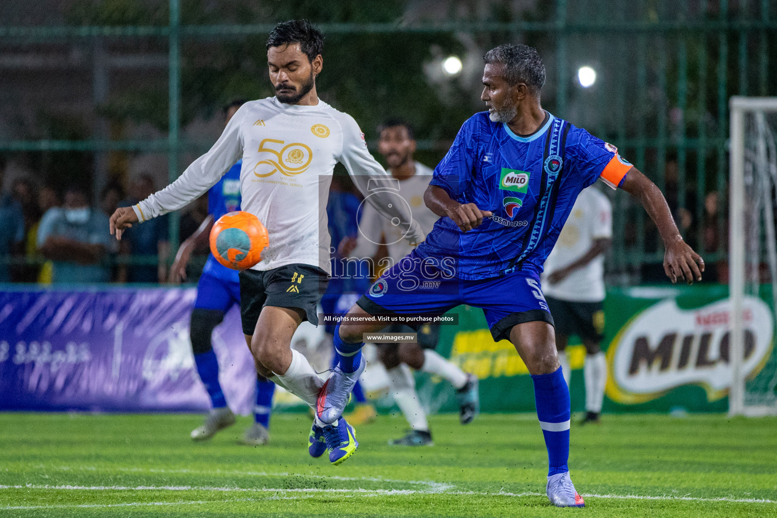
[[[667,200],[656,184],[636,167],[632,167],[626,174],[621,188],[642,203],[650,219],[656,224],[666,250],[664,272],[672,283],[676,283],[678,279],[685,279],[688,284],[692,284],[694,280],[702,280],[704,259],[683,241],[677,225],[674,224]]]

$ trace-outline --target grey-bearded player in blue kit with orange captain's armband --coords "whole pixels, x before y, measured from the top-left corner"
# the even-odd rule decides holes
[[[333,422],[364,368],[361,337],[385,322],[369,315],[441,315],[482,308],[495,340],[509,339],[526,363],[548,450],[546,493],[556,506],[584,506],[570,479],[570,393],[539,275],[582,189],[597,179],[636,197],[656,223],[672,282],[701,280],[704,263],[681,238],[660,190],[610,144],[542,110],[545,67],[525,45],[485,56],[489,111],[467,120],[434,170],[424,201],[441,218],[426,241],[378,279],[335,332],[340,363],[319,395]],[[355,322],[356,321],[356,322]]]

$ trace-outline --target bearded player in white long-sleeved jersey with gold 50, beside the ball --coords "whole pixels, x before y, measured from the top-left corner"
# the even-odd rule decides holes
[[[183,175],[131,208],[117,210],[110,230],[117,238],[137,221],[178,210],[210,189],[242,158],[242,210],[267,227],[262,260],[240,272],[243,333],[257,371],[315,407],[323,381],[308,360],[291,349],[298,325],[318,325],[316,304],[329,274],[326,200],[336,162],[356,186],[388,179],[372,158],[356,121],[319,99],[315,77],[323,67],[323,36],[307,20],[279,23],[267,40],[267,65],[276,96],[244,104],[213,148]],[[404,238],[423,241],[423,231],[406,207],[373,193],[370,203],[393,219]],[[340,464],[354,453],[354,429],[344,419],[332,425],[315,420],[308,451]]]

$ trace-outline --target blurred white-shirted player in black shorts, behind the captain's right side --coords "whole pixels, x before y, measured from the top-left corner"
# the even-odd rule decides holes
[[[577,196],[542,275],[542,291],[556,322],[556,349],[567,385],[572,371],[564,351],[570,335],[579,336],[586,348],[583,422],[599,421],[605,399],[607,363],[599,344],[605,329],[605,252],[611,241],[610,200],[596,187],[587,187]]]

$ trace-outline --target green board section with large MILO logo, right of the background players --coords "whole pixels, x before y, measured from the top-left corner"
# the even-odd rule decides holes
[[[744,375],[775,375],[767,297],[744,300]],[[610,409],[725,411],[731,387],[730,301],[725,286],[609,290],[605,301]],[[764,374],[765,376],[761,376]],[[774,390],[761,380],[754,390]]]

